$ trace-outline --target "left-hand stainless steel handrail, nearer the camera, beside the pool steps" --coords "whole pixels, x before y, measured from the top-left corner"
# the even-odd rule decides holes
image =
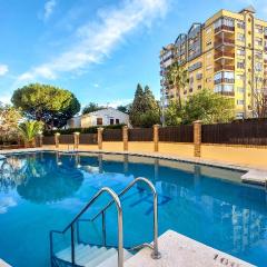
[[[111,198],[113,199],[112,202],[116,204],[117,211],[118,211],[118,267],[123,266],[123,220],[122,220],[122,208],[119,200],[118,195],[110,188],[103,187],[101,188],[92,198],[91,200],[86,205],[86,207],[75,217],[75,219],[62,230],[51,230],[50,231],[50,248],[51,248],[51,255],[52,255],[52,236],[53,234],[65,234],[69,228],[71,228],[71,264],[75,265],[75,238],[73,238],[73,227],[75,224],[78,221],[80,216],[103,194],[108,192]]]

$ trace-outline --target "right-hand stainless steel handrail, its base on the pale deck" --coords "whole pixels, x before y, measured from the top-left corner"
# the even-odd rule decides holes
[[[152,185],[152,182],[144,177],[138,177],[135,180],[132,180],[120,194],[118,194],[118,197],[121,197],[122,195],[125,195],[127,191],[129,191],[130,188],[132,188],[137,182],[145,182],[149,186],[149,188],[152,191],[154,195],[154,245],[152,245],[152,254],[151,257],[154,259],[159,259],[160,253],[158,249],[158,194],[156,191],[155,186]],[[106,210],[113,204],[115,201],[111,200],[106,207],[103,207],[103,209],[101,209],[92,219],[91,221],[93,221],[98,216],[100,215],[105,215]],[[146,245],[146,244],[144,244]],[[140,245],[142,246],[142,245]],[[138,247],[140,247],[138,246]],[[149,246],[150,247],[150,246]]]

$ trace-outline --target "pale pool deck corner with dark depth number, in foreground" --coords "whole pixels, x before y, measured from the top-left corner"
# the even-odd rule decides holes
[[[160,259],[151,259],[144,248],[125,263],[125,267],[253,267],[241,259],[168,230],[159,237]]]

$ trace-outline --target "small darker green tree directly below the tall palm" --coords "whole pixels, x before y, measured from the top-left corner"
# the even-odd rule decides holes
[[[170,101],[165,110],[165,122],[167,126],[178,126],[182,122],[184,107],[177,100]]]

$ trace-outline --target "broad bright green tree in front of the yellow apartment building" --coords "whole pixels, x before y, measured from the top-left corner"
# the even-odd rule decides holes
[[[192,95],[184,109],[184,123],[195,120],[204,123],[228,122],[235,117],[234,100],[207,89]]]

